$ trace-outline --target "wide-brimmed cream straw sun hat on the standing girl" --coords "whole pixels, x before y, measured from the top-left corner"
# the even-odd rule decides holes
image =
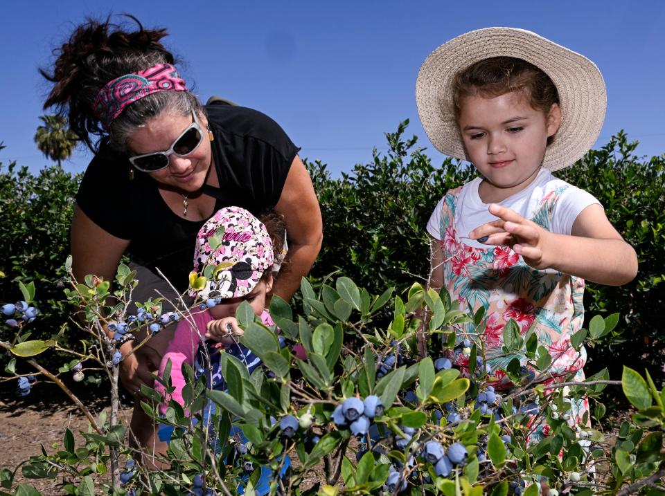
[[[583,55],[516,28],[465,33],[439,46],[425,59],[416,80],[416,105],[420,122],[436,149],[469,159],[454,116],[454,76],[479,60],[500,56],[530,62],[556,85],[562,120],[542,165],[556,170],[582,158],[596,142],[605,118],[607,96],[601,72]]]

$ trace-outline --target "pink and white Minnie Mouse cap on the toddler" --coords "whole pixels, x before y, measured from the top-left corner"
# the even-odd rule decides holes
[[[215,212],[196,237],[193,275],[206,277],[191,297],[237,298],[251,293],[273,263],[272,240],[263,222],[244,208]]]

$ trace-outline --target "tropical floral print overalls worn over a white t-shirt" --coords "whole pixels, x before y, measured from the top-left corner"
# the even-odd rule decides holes
[[[560,185],[544,196],[531,221],[550,230],[554,205],[567,187],[569,185]],[[504,326],[513,320],[522,336],[533,329],[540,345],[547,347],[552,365],[545,383],[571,375],[573,380],[583,380],[582,367],[587,354],[584,347],[580,352],[575,351],[570,338],[583,325],[584,279],[556,270],[532,268],[508,246],[483,249],[463,244],[455,223],[460,191],[461,188],[457,188],[447,192],[443,201],[439,230],[443,233],[443,280],[461,310],[475,313],[484,307],[486,327],[481,336],[476,336],[472,324],[463,324],[458,340],[476,341],[479,353],[482,345],[486,363],[496,378],[495,387],[511,387],[504,369],[513,358],[519,359],[522,365],[526,363],[523,354],[506,355],[502,351]],[[459,354],[456,365],[464,368],[465,360],[468,357]],[[587,401],[574,406],[572,420],[579,424],[588,408]]]

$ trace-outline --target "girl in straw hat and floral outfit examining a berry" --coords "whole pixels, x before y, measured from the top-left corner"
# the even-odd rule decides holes
[[[463,327],[459,340],[479,340],[505,387],[502,369],[515,356],[526,361],[502,351],[512,319],[522,335],[533,326],[552,356],[540,379],[583,379],[586,352],[575,351],[570,337],[583,324],[585,279],[619,285],[637,273],[635,250],[594,196],[551,174],[598,137],[605,116],[598,68],[535,33],[486,28],[427,57],[416,102],[434,146],[479,172],[447,192],[427,224],[430,286],[445,287],[465,311],[486,311],[481,336]]]

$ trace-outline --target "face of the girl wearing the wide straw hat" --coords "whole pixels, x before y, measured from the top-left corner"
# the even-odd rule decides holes
[[[523,93],[461,100],[459,130],[471,162],[485,178],[479,190],[485,203],[502,201],[533,181],[547,138],[560,123],[557,104],[546,115],[533,109]]]

